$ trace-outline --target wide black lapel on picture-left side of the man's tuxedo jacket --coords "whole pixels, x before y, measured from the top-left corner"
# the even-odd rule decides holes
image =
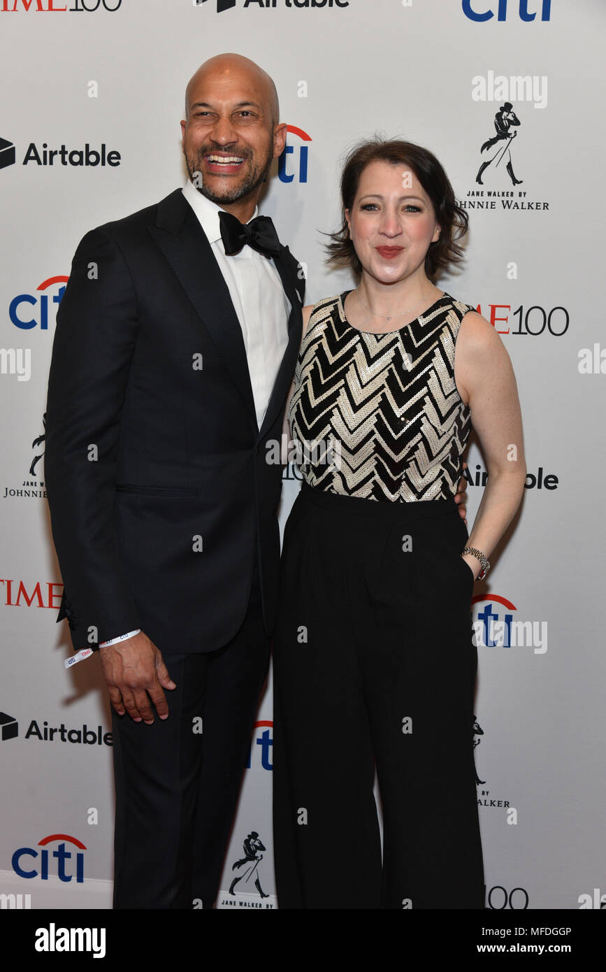
[[[152,237],[170,263],[256,424],[253,387],[238,315],[206,234],[181,190],[158,205]]]

